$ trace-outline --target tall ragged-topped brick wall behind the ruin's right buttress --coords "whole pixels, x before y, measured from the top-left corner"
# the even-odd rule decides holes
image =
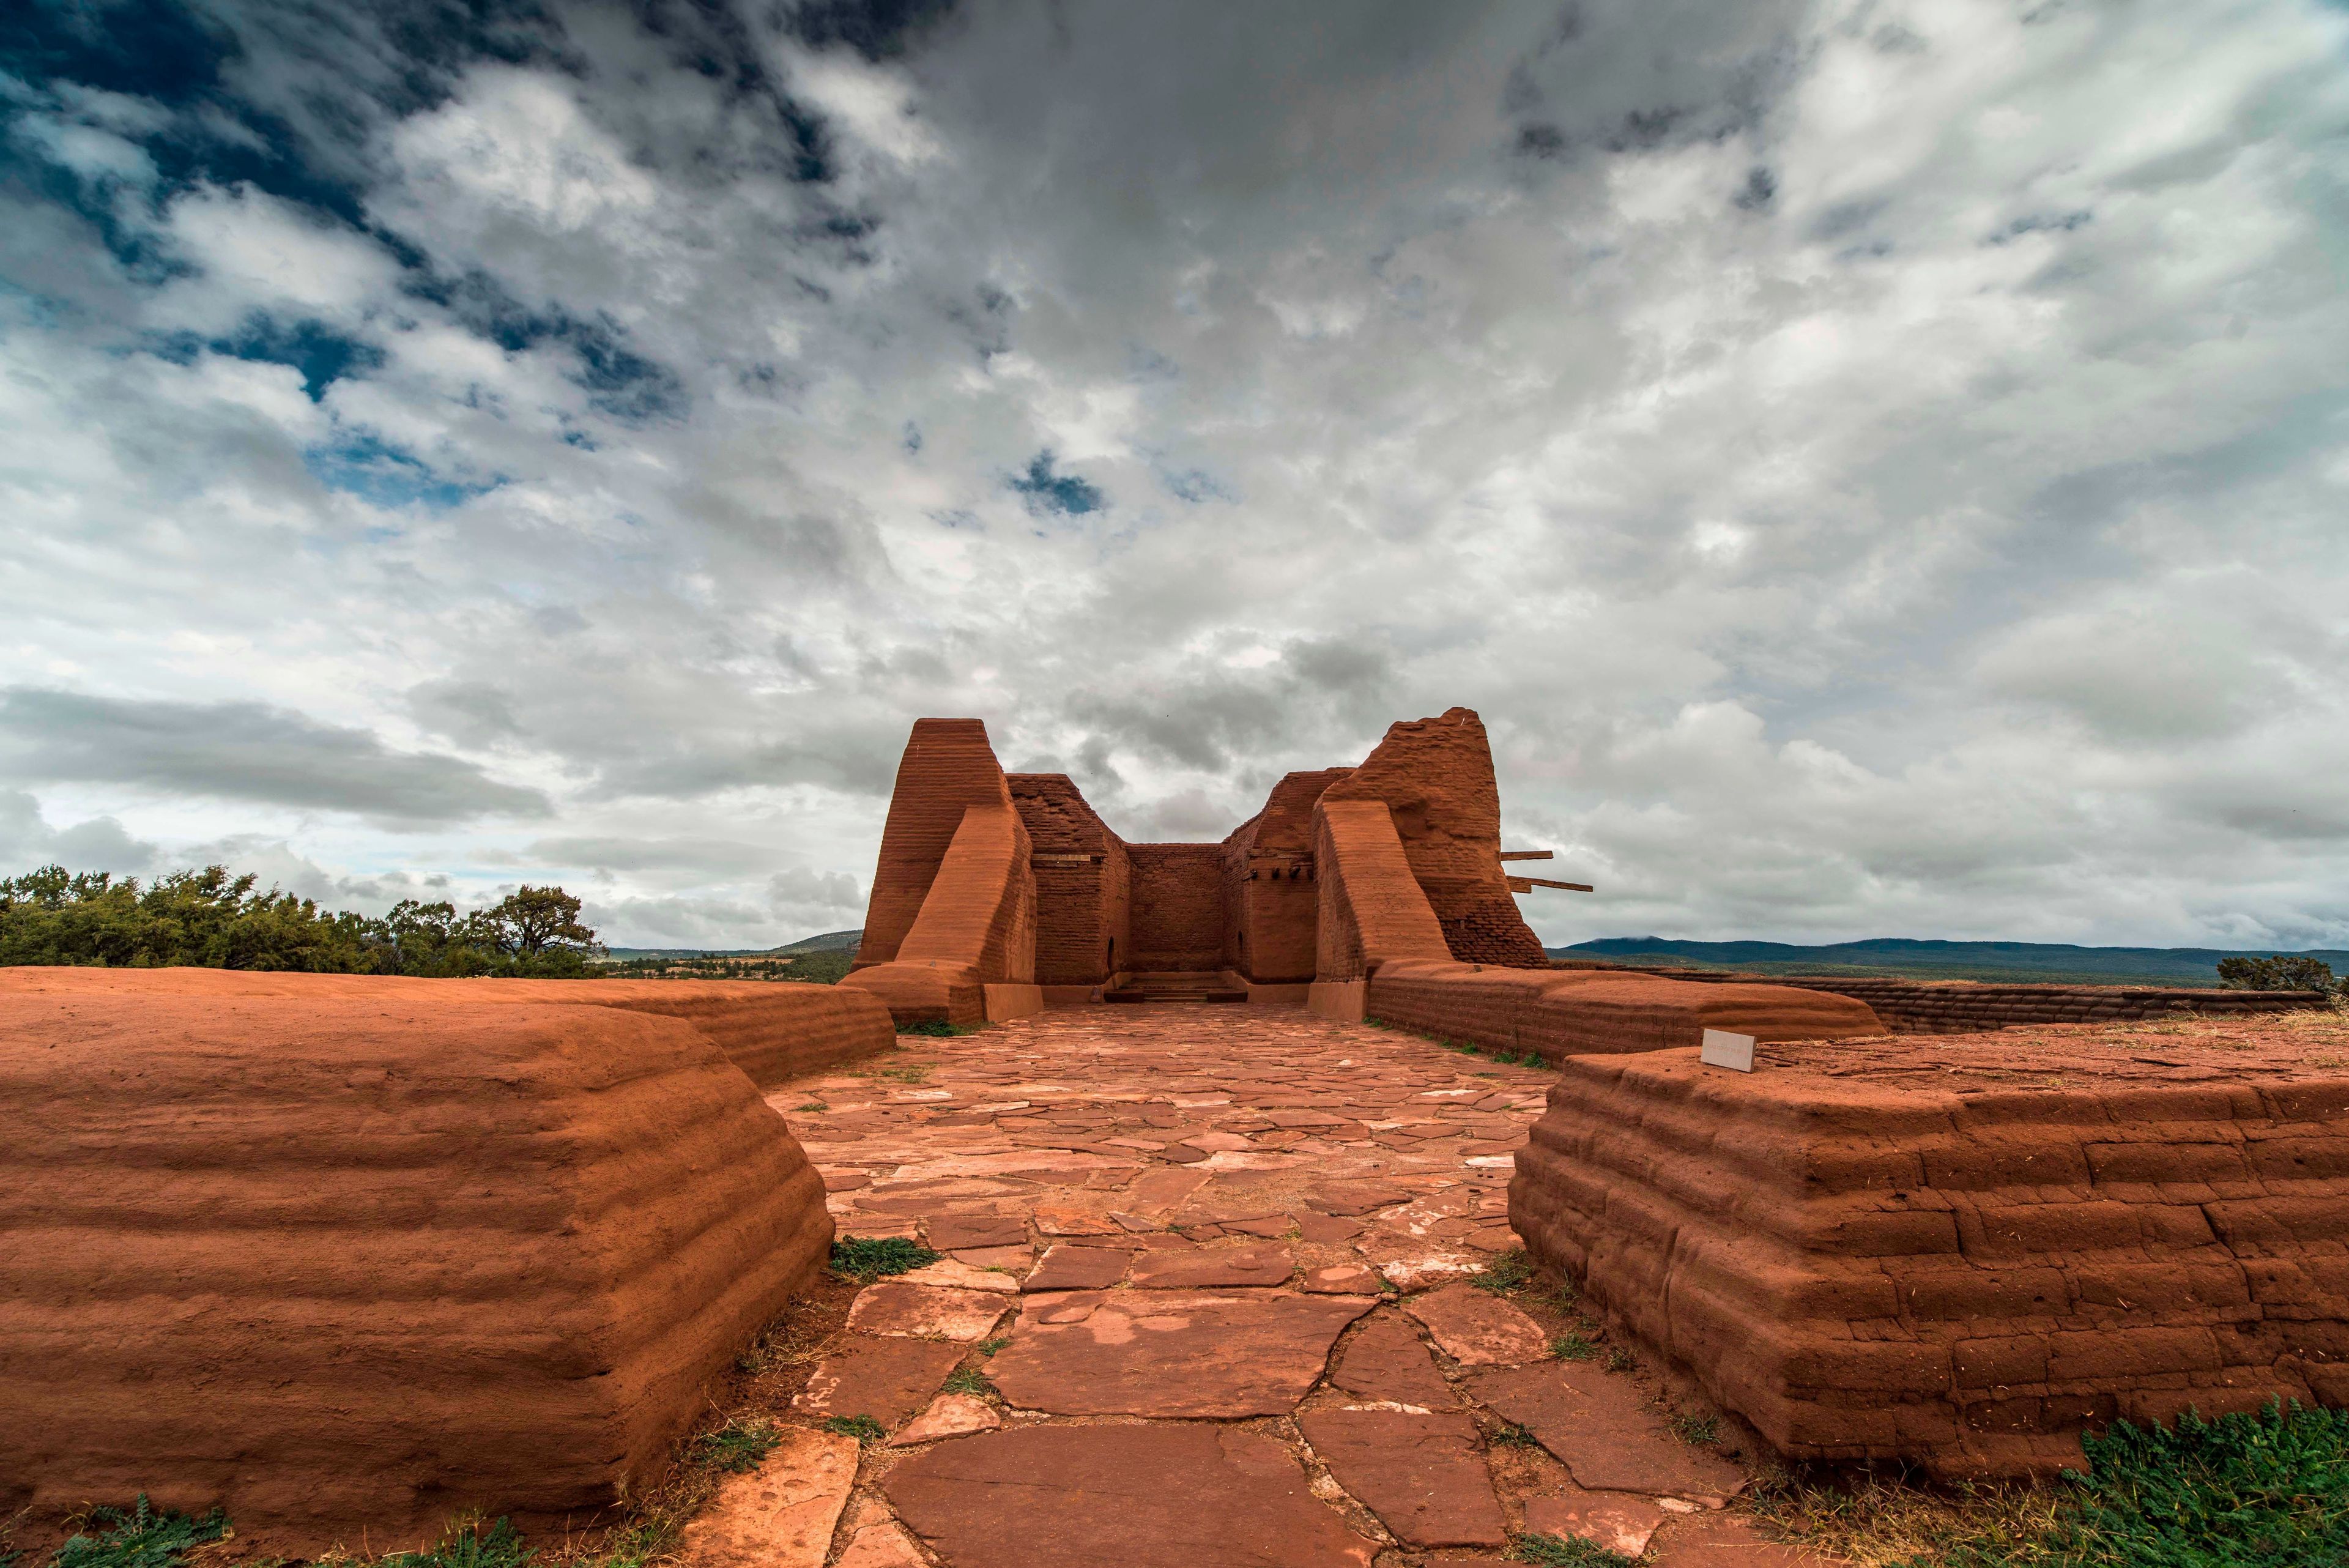
[[[1501,870],[1501,788],[1485,722],[1473,710],[1388,726],[1379,750],[1322,799],[1386,802],[1452,957],[1548,969]]]

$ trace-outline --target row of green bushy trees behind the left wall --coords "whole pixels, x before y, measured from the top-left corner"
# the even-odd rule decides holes
[[[580,900],[524,886],[486,910],[404,898],[388,914],[319,910],[226,865],[141,884],[42,865],[0,879],[0,964],[294,969],[345,976],[583,978],[601,954]]]

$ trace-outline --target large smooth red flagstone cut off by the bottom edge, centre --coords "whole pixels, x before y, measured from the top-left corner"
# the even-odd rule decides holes
[[[1377,1549],[1285,1448],[1231,1427],[991,1432],[883,1490],[954,1568],[1369,1568]]]

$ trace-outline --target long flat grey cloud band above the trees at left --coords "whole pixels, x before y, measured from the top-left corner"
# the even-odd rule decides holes
[[[261,703],[9,686],[0,691],[0,769],[23,783],[134,785],[402,825],[550,811],[538,790],[498,783],[460,757],[395,752],[364,729]]]

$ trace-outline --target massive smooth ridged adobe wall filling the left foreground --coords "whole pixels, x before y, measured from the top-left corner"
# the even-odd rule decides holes
[[[134,1493],[280,1556],[578,1523],[832,1244],[702,1027],[496,980],[0,971],[0,1514],[35,1530]]]

